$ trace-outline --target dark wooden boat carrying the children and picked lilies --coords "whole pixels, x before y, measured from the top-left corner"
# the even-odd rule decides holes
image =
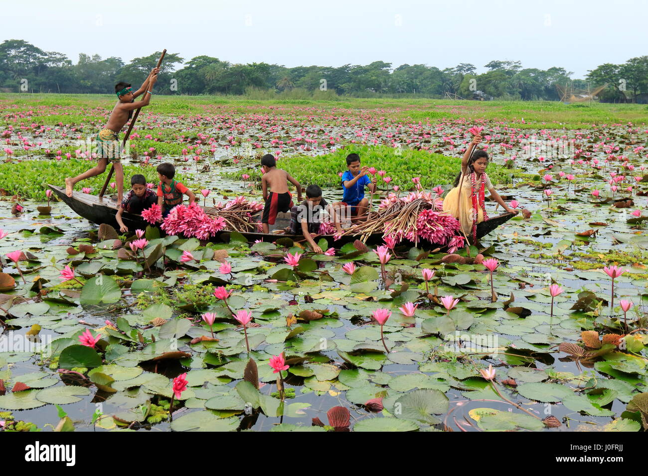
[[[119,229],[117,225],[117,220],[115,220],[115,215],[119,207],[119,203],[113,200],[110,197],[104,196],[99,198],[95,195],[84,194],[82,192],[73,192],[71,197],[68,197],[65,194],[65,188],[56,187],[55,185],[48,185],[51,188],[52,192],[58,196],[62,201],[64,201],[68,207],[73,209],[86,220],[101,225],[102,223],[107,223],[115,229]],[[515,216],[513,213],[503,213],[498,216],[489,218],[488,220],[482,221],[477,225],[477,237],[482,238],[483,236],[489,234],[491,231],[502,225],[503,223],[509,221]],[[257,219],[260,219],[260,213],[257,215]],[[122,221],[124,225],[128,227],[130,231],[137,229],[145,229],[146,221],[140,215],[131,214],[124,212],[122,214]],[[248,240],[248,242],[255,242],[261,240],[264,242],[273,242],[278,238],[290,238],[293,242],[303,242],[305,238],[301,234],[286,234],[286,233],[275,233],[273,231],[281,231],[290,226],[290,213],[279,213],[277,214],[277,220],[275,224],[270,227],[270,233],[264,234],[259,232],[242,232],[241,234]],[[229,242],[231,231],[220,231],[211,238],[211,242],[222,243]],[[340,240],[335,241],[331,235],[323,235],[315,238],[317,242],[320,238],[326,238],[329,241],[329,245],[340,247],[343,244],[354,242],[356,236],[345,235],[340,238]],[[369,236],[367,239],[367,244],[378,244],[382,242],[382,233],[375,233]],[[419,242],[419,247],[430,248],[438,247],[438,245],[431,244],[428,242]]]

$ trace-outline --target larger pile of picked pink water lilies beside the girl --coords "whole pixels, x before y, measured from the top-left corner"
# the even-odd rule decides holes
[[[344,234],[358,235],[364,242],[377,232],[397,243],[406,238],[414,244],[427,240],[452,246],[453,238],[459,234],[459,221],[444,212],[443,201],[429,192],[411,192],[403,197],[389,194],[388,198],[380,201],[378,212],[347,229]]]

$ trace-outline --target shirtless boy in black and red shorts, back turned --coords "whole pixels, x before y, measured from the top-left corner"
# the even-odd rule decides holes
[[[261,178],[261,188],[263,199],[266,201],[261,224],[263,232],[268,234],[270,232],[269,225],[275,224],[277,213],[287,212],[293,207],[292,196],[288,192],[288,182],[297,187],[297,201],[301,201],[301,185],[288,172],[277,168],[277,161],[270,153],[261,157],[261,166],[264,172]],[[272,191],[268,192],[268,188]]]

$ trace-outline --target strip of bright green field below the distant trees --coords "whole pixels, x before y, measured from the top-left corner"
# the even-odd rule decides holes
[[[0,111],[8,113],[33,110],[32,120],[40,124],[82,122],[98,119],[101,109],[110,110],[115,102],[113,95],[19,95],[0,93]],[[60,114],[51,114],[52,107],[61,108]],[[78,112],[75,109],[79,110]],[[88,109],[99,108],[95,111]],[[269,108],[281,108],[269,109]],[[305,108],[314,108],[304,110]],[[332,109],[343,109],[342,111]],[[351,111],[349,110],[351,109]],[[204,113],[269,113],[296,115],[337,116],[372,115],[395,120],[416,120],[437,122],[443,119],[497,120],[516,127],[536,128],[547,124],[552,128],[585,128],[590,124],[612,124],[632,122],[648,124],[648,106],[645,104],[602,104],[538,101],[469,101],[433,99],[363,99],[340,98],[340,100],[256,100],[246,96],[154,96],[148,107],[150,113],[162,115],[204,114]],[[522,124],[524,119],[524,124]]]

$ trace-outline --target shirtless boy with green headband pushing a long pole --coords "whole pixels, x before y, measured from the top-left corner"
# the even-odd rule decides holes
[[[157,81],[157,73],[159,68],[154,68],[148,74],[143,84],[137,91],[133,91],[130,84],[119,82],[115,85],[115,93],[117,94],[117,104],[110,113],[110,119],[106,127],[99,131],[97,134],[97,161],[98,164],[80,174],[76,177],[67,177],[65,179],[65,194],[68,197],[72,196],[72,190],[75,184],[85,180],[89,177],[98,176],[106,171],[108,162],[115,167],[115,180],[117,181],[117,203],[121,203],[124,194],[124,168],[119,162],[119,150],[121,144],[119,143],[119,131],[122,130],[126,122],[133,117],[135,109],[148,106],[151,100],[152,89]],[[142,93],[145,94],[144,99],[135,102],[135,98]]]

